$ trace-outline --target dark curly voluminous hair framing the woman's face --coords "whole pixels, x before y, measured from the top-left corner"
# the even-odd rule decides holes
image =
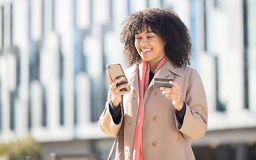
[[[144,27],[151,27],[165,42],[165,53],[175,67],[190,65],[191,37],[185,24],[171,9],[148,8],[130,14],[123,21],[120,41],[124,43],[123,55],[128,66],[141,60],[135,48],[135,33],[141,33]]]

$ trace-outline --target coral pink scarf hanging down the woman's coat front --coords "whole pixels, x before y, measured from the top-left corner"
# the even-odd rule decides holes
[[[155,69],[155,74],[162,67],[162,65],[167,61],[168,57],[165,56],[157,65]],[[147,61],[141,60],[139,63],[139,111],[137,116],[137,123],[135,129],[135,135],[133,140],[133,160],[142,160],[142,125],[144,117],[144,94],[149,85],[149,71],[150,66]]]

